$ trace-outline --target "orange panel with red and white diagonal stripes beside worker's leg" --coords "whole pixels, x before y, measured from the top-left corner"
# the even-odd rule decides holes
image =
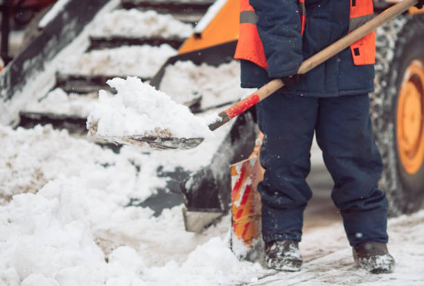
[[[256,190],[263,179],[259,163],[263,134],[256,139],[249,159],[231,165],[231,250],[240,260],[257,260],[260,239],[260,195]]]

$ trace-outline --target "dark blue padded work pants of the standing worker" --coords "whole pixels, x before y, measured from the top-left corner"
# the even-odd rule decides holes
[[[305,178],[314,131],[350,244],[387,242],[387,198],[378,189],[382,161],[368,94],[312,98],[275,93],[257,110],[265,134],[260,149],[265,175],[258,185],[265,242],[301,240],[303,210],[312,197]]]

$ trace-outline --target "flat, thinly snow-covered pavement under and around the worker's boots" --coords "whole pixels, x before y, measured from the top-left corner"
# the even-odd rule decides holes
[[[423,285],[424,211],[389,220],[389,251],[396,259],[393,274],[369,274],[357,269],[342,223],[303,235],[303,269],[298,273],[265,274],[238,285]],[[237,284],[236,284],[237,285]]]

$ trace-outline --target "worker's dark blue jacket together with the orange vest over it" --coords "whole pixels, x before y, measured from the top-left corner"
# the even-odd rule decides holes
[[[258,88],[272,78],[297,73],[303,60],[370,19],[373,10],[371,0],[304,0],[304,11],[299,8],[299,0],[242,1],[244,8],[251,6],[244,10],[254,10],[257,15],[242,17],[242,21],[256,19],[256,25],[243,24],[250,28],[240,31],[236,51],[236,57],[240,58],[241,85],[247,88]],[[306,15],[304,26],[299,20],[301,11]],[[256,44],[242,35],[247,29],[255,32],[251,38],[256,39]],[[373,33],[367,35],[301,75],[299,84],[285,93],[329,97],[373,91],[374,37]]]

